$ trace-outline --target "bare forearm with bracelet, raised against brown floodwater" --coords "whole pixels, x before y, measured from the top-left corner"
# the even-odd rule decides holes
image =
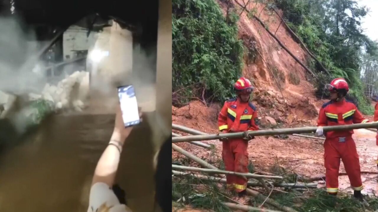
[[[97,163],[92,184],[102,182],[106,183],[109,187],[113,186],[124,139],[119,133],[113,132],[108,146]]]

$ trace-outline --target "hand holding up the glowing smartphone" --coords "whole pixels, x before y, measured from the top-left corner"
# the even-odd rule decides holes
[[[139,109],[139,117],[143,115],[141,112],[141,109]],[[116,118],[114,122],[114,130],[113,130],[113,135],[111,138],[111,141],[117,141],[119,143],[124,143],[126,138],[129,136],[130,132],[132,131],[133,126],[129,126],[125,128],[125,124],[123,123],[122,119],[122,111],[121,111],[121,106],[117,104],[116,106]]]

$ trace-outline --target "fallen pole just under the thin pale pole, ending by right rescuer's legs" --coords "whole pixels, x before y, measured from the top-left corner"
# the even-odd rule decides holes
[[[185,172],[178,172],[175,170],[172,170],[172,174],[176,176],[191,176],[197,179],[201,180],[209,180],[209,181],[215,181],[218,183],[227,183],[225,178],[220,178],[220,177],[212,177],[212,176],[206,176],[206,175],[195,175],[192,173],[185,173]],[[262,187],[260,183],[257,182],[252,182],[248,181],[248,186],[252,187]],[[285,188],[316,188],[318,186],[318,183],[308,183],[308,184],[303,184],[303,183],[273,183],[274,187],[285,187]]]

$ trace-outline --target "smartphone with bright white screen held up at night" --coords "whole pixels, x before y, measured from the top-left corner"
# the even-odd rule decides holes
[[[140,123],[138,103],[136,102],[134,86],[118,87],[118,98],[121,105],[122,119],[125,128]]]

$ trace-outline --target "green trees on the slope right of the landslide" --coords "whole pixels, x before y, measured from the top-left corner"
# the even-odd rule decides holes
[[[376,45],[361,28],[361,18],[368,10],[356,0],[275,0],[290,27],[308,49],[334,77],[343,77],[350,84],[350,98],[365,114],[372,114],[370,101],[363,95],[361,81],[362,56],[376,57]],[[313,63],[316,64],[316,63]],[[322,71],[319,65],[315,65]],[[325,75],[319,75],[325,77]],[[323,95],[325,78],[318,79],[318,95]],[[328,80],[328,77],[327,77]]]

